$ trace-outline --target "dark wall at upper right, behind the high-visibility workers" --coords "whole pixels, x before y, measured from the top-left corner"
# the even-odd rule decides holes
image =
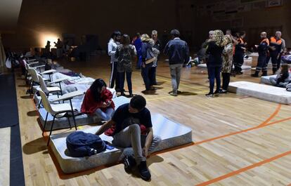
[[[218,0],[219,1],[219,0]],[[196,7],[212,4],[212,0],[197,1]],[[275,34],[277,30],[282,31],[283,39],[285,39],[287,47],[291,47],[291,1],[283,1],[283,6],[277,6],[273,8],[267,8],[267,1],[254,1],[254,4],[243,4],[242,6],[248,6],[249,11],[239,11],[238,13],[226,14],[225,20],[219,20],[215,14],[201,15],[198,13],[196,21],[196,34],[195,44],[201,44],[202,41],[208,36],[208,31],[212,29],[232,29],[233,31],[245,31],[247,32],[247,43],[258,44],[259,34],[262,31],[268,32],[269,36]],[[261,5],[254,8],[254,5]],[[198,9],[199,10],[199,9]],[[226,9],[227,10],[227,9]],[[231,11],[228,9],[228,11]],[[219,15],[220,16],[220,15]],[[227,16],[232,16],[228,19]],[[242,25],[233,24],[233,20],[242,19]]]

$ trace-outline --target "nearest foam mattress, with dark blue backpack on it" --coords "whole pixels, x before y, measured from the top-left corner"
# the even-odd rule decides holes
[[[153,114],[152,121],[154,135],[159,135],[160,138],[162,138],[160,145],[155,149],[154,152],[186,145],[192,142],[191,128],[183,126],[182,124],[177,124],[175,121],[171,121],[166,117],[163,117],[161,114]],[[86,133],[96,133],[98,128],[100,128],[100,126],[93,126],[82,131]],[[91,168],[96,168],[97,166],[117,163],[117,161],[120,161],[124,158],[124,154],[127,151],[127,149],[114,148],[91,157],[70,157],[67,152],[66,145],[66,137],[70,133],[59,133],[51,135],[50,145],[53,154],[58,160],[58,164],[64,173],[76,173]],[[107,135],[103,134],[100,137],[105,141],[112,141],[112,137]]]

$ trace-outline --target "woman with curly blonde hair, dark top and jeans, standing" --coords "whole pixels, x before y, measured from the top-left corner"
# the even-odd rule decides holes
[[[206,53],[209,54],[207,60],[207,70],[209,74],[209,93],[207,97],[212,98],[213,95],[219,95],[219,89],[221,84],[220,72],[222,66],[222,51],[226,46],[228,39],[224,36],[224,32],[220,29],[214,30],[213,37],[210,39]],[[216,80],[216,91],[214,92],[214,80]]]

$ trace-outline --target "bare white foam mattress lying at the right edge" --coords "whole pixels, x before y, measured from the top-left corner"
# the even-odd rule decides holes
[[[256,84],[247,81],[236,81],[229,84],[228,91],[261,100],[287,105],[291,104],[291,92],[286,91],[285,88],[276,86]]]

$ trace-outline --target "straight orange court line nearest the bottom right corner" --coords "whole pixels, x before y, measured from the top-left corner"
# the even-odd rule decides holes
[[[263,160],[263,161],[259,161],[259,162],[257,162],[256,164],[252,164],[252,165],[250,165],[250,166],[246,166],[246,167],[244,167],[244,168],[240,168],[240,169],[238,169],[237,171],[233,171],[233,172],[231,172],[231,173],[227,173],[227,174],[225,174],[225,175],[221,175],[221,176],[219,176],[219,177],[217,177],[217,178],[214,178],[214,179],[212,179],[212,180],[208,180],[207,182],[202,182],[202,183],[200,183],[200,184],[198,184],[198,185],[196,185],[196,186],[205,186],[205,185],[210,185],[210,184],[212,184],[212,183],[214,183],[214,182],[218,182],[218,181],[220,181],[220,180],[224,180],[224,179],[229,178],[229,177],[231,177],[231,176],[233,176],[233,175],[237,175],[237,174],[239,174],[239,173],[243,173],[244,171],[250,170],[251,168],[255,168],[255,167],[257,167],[257,166],[261,166],[261,165],[263,165],[263,164],[270,163],[271,161],[274,161],[274,160],[279,159],[279,158],[281,158],[281,157],[285,157],[285,156],[290,155],[290,154],[291,154],[291,150],[290,150],[290,151],[287,151],[287,152],[284,152],[283,154],[278,154],[276,157],[271,157],[271,158],[269,158],[269,159],[265,159],[265,160]]]

